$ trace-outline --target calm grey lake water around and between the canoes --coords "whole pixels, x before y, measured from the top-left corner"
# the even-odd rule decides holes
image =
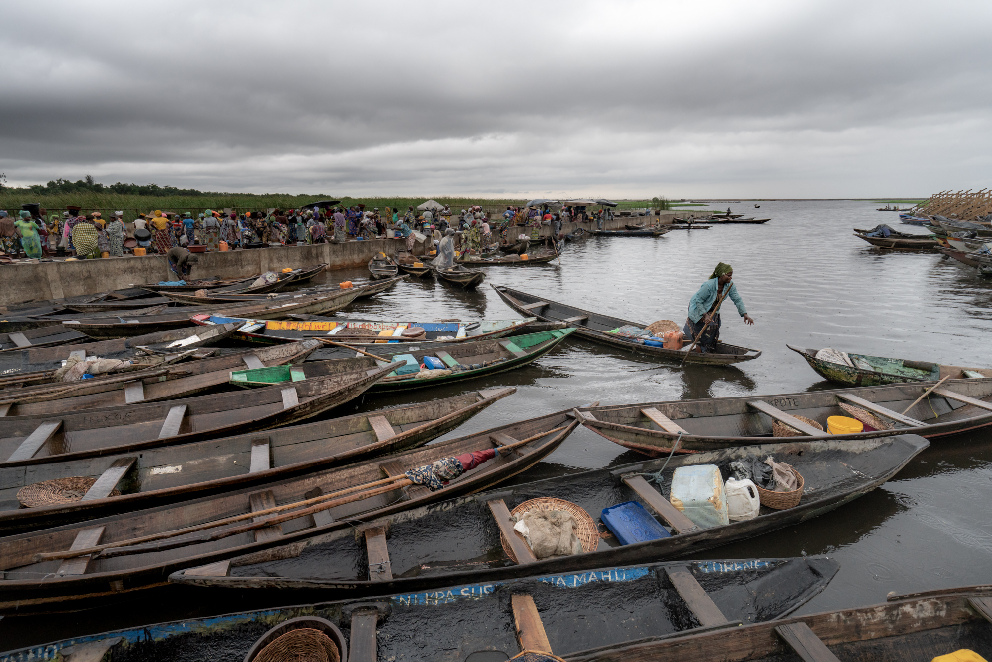
[[[435,391],[369,396],[338,415],[477,388],[517,388],[516,394],[441,438],[449,439],[596,400],[619,405],[831,388],[787,343],[992,366],[992,347],[984,344],[992,328],[992,280],[939,253],[883,252],[851,234],[852,227],[881,222],[908,232],[923,233],[923,228],[901,225],[897,214],[878,212],[877,205],[867,202],[729,206],[735,213],[772,220],[673,230],[656,239],[590,237],[569,243],[560,263],[485,268],[486,282],[477,292],[434,280],[405,282],[341,316],[384,321],[519,317],[489,287],[493,284],[634,321],[669,319],[682,325],[689,298],[722,261],[733,266],[734,282],[756,324],[745,325],[730,306],[723,315],[721,338],[761,349],[757,360],[680,368],[580,339],[566,340],[522,369]],[[365,277],[364,270],[334,272],[326,275],[326,282]],[[547,462],[515,481],[642,458],[580,427]],[[711,550],[704,558],[827,554],[837,559],[840,572],[799,613],[882,602],[890,591],[989,583],[990,502],[992,437],[987,431],[959,435],[934,440],[894,479],[845,507],[800,526]],[[232,601],[215,612],[240,608]],[[139,599],[111,609],[113,617],[85,612],[44,622],[8,617],[0,621],[0,650],[149,622],[141,618],[153,612],[164,620],[199,615],[201,610],[186,603],[152,609]]]

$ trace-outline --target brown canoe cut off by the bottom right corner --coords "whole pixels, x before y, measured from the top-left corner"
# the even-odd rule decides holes
[[[823,611],[745,627],[717,627],[686,637],[588,650],[568,662],[931,662],[965,649],[990,655],[992,587],[906,596],[883,604]]]

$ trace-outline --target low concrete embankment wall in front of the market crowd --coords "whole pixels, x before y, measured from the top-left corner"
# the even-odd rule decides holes
[[[663,211],[661,217],[652,216],[651,219],[669,223],[678,213]],[[647,218],[617,217],[612,222],[604,224],[603,229],[622,229],[628,222],[642,220]],[[565,223],[563,231],[571,232],[576,227],[594,229],[595,223]],[[527,228],[520,229],[524,233],[528,232]],[[548,226],[541,228],[542,235],[550,232],[551,228]],[[295,269],[321,262],[328,263],[327,268],[331,270],[349,269],[365,266],[379,251],[392,255],[402,247],[402,240],[372,239],[338,244],[213,251],[197,255],[199,262],[193,267],[192,277],[241,278],[266,271]],[[422,243],[415,246],[415,251],[426,249],[427,246]],[[0,306],[79,297],[142,283],[169,281],[174,278],[175,275],[169,270],[165,255],[12,264],[0,268],[0,279],[3,283],[3,287],[0,288]]]

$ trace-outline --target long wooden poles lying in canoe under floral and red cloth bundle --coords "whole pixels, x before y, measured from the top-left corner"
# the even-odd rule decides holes
[[[523,446],[525,444],[530,444],[531,442],[536,441],[538,439],[541,439],[542,437],[547,437],[548,435],[551,435],[553,433],[560,432],[560,431],[564,430],[567,427],[568,427],[567,425],[564,425],[564,426],[555,428],[553,430],[548,430],[547,432],[542,432],[542,433],[539,433],[539,434],[534,435],[532,437],[528,437],[527,439],[521,440],[519,442],[514,442],[513,444],[507,444],[506,446],[497,447],[496,451],[500,455],[505,455],[504,452],[506,452],[506,451],[510,451],[512,449],[515,449],[518,446]],[[387,483],[391,483],[391,484],[387,484]],[[271,518],[271,519],[266,519],[266,520],[262,520],[262,521],[259,521],[259,522],[253,522],[251,525],[248,525],[248,528],[240,528],[239,527],[238,530],[237,530],[237,532],[238,533],[243,533],[244,531],[250,531],[250,530],[256,529],[256,528],[262,528],[262,527],[269,526],[269,525],[272,525],[272,524],[278,524],[278,523],[283,522],[283,521],[286,521],[288,519],[296,519],[297,517],[302,517],[304,515],[312,514],[314,512],[319,512],[320,510],[326,510],[327,508],[333,508],[336,505],[342,505],[344,503],[351,503],[352,501],[359,501],[359,500],[368,498],[370,496],[375,496],[376,494],[381,494],[383,492],[388,492],[390,490],[398,489],[400,487],[405,487],[405,486],[410,485],[410,484],[413,484],[413,482],[409,478],[407,478],[406,473],[400,473],[398,475],[391,475],[388,478],[381,478],[381,479],[375,480],[373,482],[366,482],[366,483],[363,483],[361,485],[354,485],[354,486],[351,486],[351,487],[346,487],[344,489],[339,489],[336,492],[331,492],[329,494],[321,494],[320,496],[314,496],[313,498],[306,499],[306,500],[303,500],[303,501],[295,501],[293,503],[287,503],[287,504],[284,504],[284,505],[281,505],[281,506],[275,506],[275,507],[272,507],[272,508],[266,508],[265,510],[256,510],[256,511],[249,512],[249,513],[242,513],[240,515],[233,515],[231,517],[226,517],[224,519],[218,519],[218,520],[213,520],[213,521],[210,521],[210,522],[204,522],[202,524],[196,524],[194,526],[187,526],[186,528],[183,528],[183,529],[175,529],[173,531],[164,531],[162,533],[155,533],[155,534],[151,534],[151,535],[148,535],[148,536],[141,536],[139,538],[132,538],[131,540],[122,540],[122,541],[118,541],[118,542],[115,542],[115,543],[106,543],[104,545],[96,545],[94,547],[88,547],[86,549],[80,549],[80,550],[71,550],[71,551],[66,551],[66,552],[43,552],[43,553],[40,553],[40,554],[36,554],[35,557],[34,557],[34,561],[35,561],[35,563],[39,563],[41,561],[50,561],[50,560],[55,560],[55,559],[72,559],[74,557],[85,556],[87,554],[96,554],[97,552],[102,552],[103,550],[107,550],[107,549],[132,547],[132,546],[135,546],[135,543],[145,543],[145,542],[153,542],[155,540],[164,540],[164,539],[167,539],[167,538],[175,538],[177,536],[182,536],[182,535],[185,535],[187,533],[196,533],[197,531],[203,531],[205,529],[213,529],[213,528],[216,528],[218,526],[224,526],[225,524],[233,524],[234,522],[239,522],[239,521],[243,521],[243,520],[246,520],[246,519],[254,519],[256,517],[261,517],[261,516],[268,515],[268,514],[283,512],[283,511],[286,511],[286,510],[294,510],[295,508],[301,508],[301,507],[305,507],[305,506],[310,506],[312,504],[318,504],[317,506],[315,506],[313,508],[309,508],[307,510],[294,510],[294,512],[288,513],[288,515],[286,515],[286,516],[277,517],[277,518]],[[385,488],[380,488],[381,485],[386,485],[386,486],[385,486]],[[369,489],[369,488],[374,488],[374,489]],[[361,491],[358,494],[354,494],[353,493],[353,492],[357,492],[359,490],[367,490],[367,491]],[[350,496],[344,497],[343,499],[337,499],[336,498],[336,497],[341,497],[344,494],[350,494]],[[334,499],[334,500],[331,501],[331,499]],[[233,531],[233,529],[227,529],[227,530],[222,531],[220,533],[228,534],[229,531]],[[231,534],[228,534],[228,535],[231,535]],[[221,537],[226,537],[226,536],[221,536]],[[185,540],[185,541],[179,541],[179,542],[182,542],[184,545],[190,545],[190,544],[194,544],[194,543],[203,542],[203,539],[201,539],[201,538],[195,538],[195,539],[192,539],[192,540]],[[155,551],[155,550],[150,550],[150,549],[147,549],[147,548],[144,548],[144,549],[135,549],[131,553],[133,553],[133,554],[139,554],[139,553],[142,553],[142,552],[151,552],[151,551]]]

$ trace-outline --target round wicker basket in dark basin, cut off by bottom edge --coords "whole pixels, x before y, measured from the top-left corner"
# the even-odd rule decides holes
[[[316,616],[291,618],[263,634],[244,662],[341,662],[348,655],[341,631]]]

